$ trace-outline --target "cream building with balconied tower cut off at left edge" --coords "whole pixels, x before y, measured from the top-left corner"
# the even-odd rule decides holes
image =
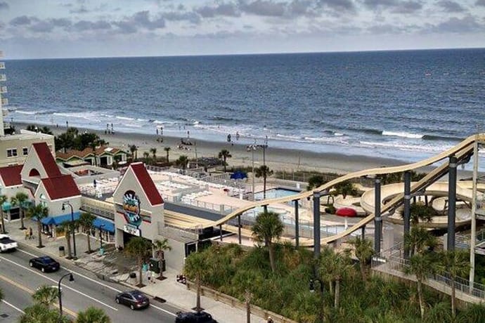
[[[4,62],[0,62],[0,70],[4,68]],[[23,164],[33,143],[46,143],[51,152],[55,152],[54,136],[27,130],[15,131],[6,122],[8,110],[4,110],[3,106],[8,104],[8,100],[2,98],[2,94],[7,92],[7,88],[1,86],[2,81],[6,81],[6,76],[0,73],[0,167]]]

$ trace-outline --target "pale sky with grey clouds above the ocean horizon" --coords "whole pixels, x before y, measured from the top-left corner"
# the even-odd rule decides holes
[[[5,58],[485,47],[485,0],[0,0]]]

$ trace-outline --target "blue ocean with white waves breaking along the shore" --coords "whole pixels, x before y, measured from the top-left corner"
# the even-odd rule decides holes
[[[485,131],[485,48],[6,60],[5,72],[6,121],[51,127],[406,162]]]

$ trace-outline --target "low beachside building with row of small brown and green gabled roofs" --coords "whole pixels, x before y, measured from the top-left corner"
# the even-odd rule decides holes
[[[87,164],[111,168],[113,163],[117,165],[125,164],[127,155],[128,152],[116,147],[101,146],[94,150],[88,147],[84,150],[58,152],[56,162],[65,168]]]

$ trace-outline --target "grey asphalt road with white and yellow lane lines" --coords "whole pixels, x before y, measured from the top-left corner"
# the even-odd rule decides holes
[[[165,303],[150,299],[150,307],[144,310],[130,310],[115,303],[115,295],[129,288],[119,284],[101,281],[81,268],[65,268],[61,263],[58,272],[43,273],[30,268],[29,260],[41,253],[31,253],[18,249],[11,253],[0,254],[0,288],[4,291],[4,302],[0,305],[0,322],[15,322],[21,310],[32,304],[30,296],[41,285],[57,286],[60,277],[72,272],[75,281],[65,277],[61,284],[63,312],[74,317],[77,312],[88,306],[103,309],[112,322],[174,322],[175,312],[179,311]],[[8,315],[5,317],[5,315]]]

